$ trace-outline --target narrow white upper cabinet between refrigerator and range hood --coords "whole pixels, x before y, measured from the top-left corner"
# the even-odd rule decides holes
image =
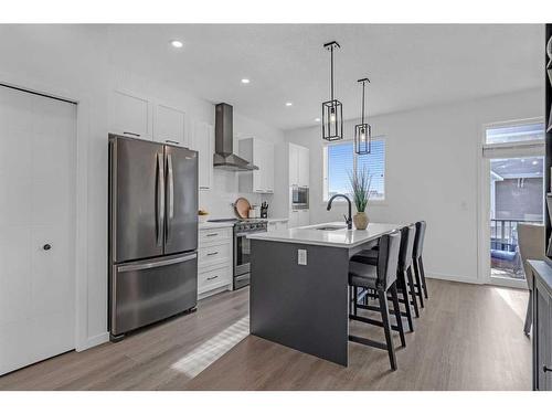
[[[200,190],[210,190],[213,187],[214,127],[204,121],[195,121],[190,149],[199,152]]]

